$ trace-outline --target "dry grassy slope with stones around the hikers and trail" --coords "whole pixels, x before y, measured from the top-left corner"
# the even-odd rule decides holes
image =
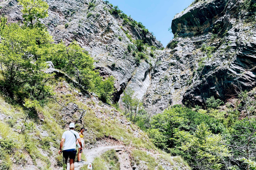
[[[83,124],[88,128],[85,138],[87,147],[95,144],[97,140],[104,140],[104,137],[111,136],[117,140],[123,138],[124,145],[133,148],[132,159],[137,164],[139,160],[146,162],[145,165],[149,169],[154,169],[160,160],[152,157],[147,159],[149,160],[147,163],[147,160],[140,156],[144,155],[145,151],[161,153],[161,158],[172,163],[177,162],[170,155],[157,149],[148,136],[137,126],[122,124],[120,119],[123,119],[125,123],[127,120],[115,108],[103,104],[98,99],[80,96],[75,92],[76,89],[67,84],[63,78],[52,79],[50,85],[55,89],[56,99],[62,105],[68,106],[69,103],[75,103],[80,109],[89,108],[83,117]],[[17,166],[23,165],[26,169],[28,164],[34,164],[38,169],[45,170],[61,167],[62,157],[57,154],[57,149],[53,149],[59,147],[61,135],[70,122],[76,122],[77,128],[83,126],[78,123],[80,112],[76,111],[71,118],[66,115],[67,112],[64,111],[65,109],[63,110],[62,106],[50,99],[45,106],[36,108],[37,115],[26,121],[29,124],[20,134],[27,111],[22,106],[12,104],[11,100],[8,102],[4,96],[0,97],[0,103],[0,113],[7,116],[7,118],[0,120],[0,135],[2,137],[0,168],[16,169]],[[136,131],[139,137],[134,136]],[[48,136],[44,137],[42,132],[47,133]]]

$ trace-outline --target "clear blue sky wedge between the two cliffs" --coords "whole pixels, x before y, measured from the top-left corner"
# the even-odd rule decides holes
[[[153,32],[164,47],[171,41],[173,34],[168,31],[176,13],[188,7],[192,0],[108,0],[118,6],[128,16]]]

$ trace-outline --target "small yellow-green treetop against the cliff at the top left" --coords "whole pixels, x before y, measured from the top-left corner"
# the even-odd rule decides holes
[[[33,28],[34,24],[40,26],[39,19],[48,17],[49,5],[43,0],[18,0],[22,5],[24,24]]]

